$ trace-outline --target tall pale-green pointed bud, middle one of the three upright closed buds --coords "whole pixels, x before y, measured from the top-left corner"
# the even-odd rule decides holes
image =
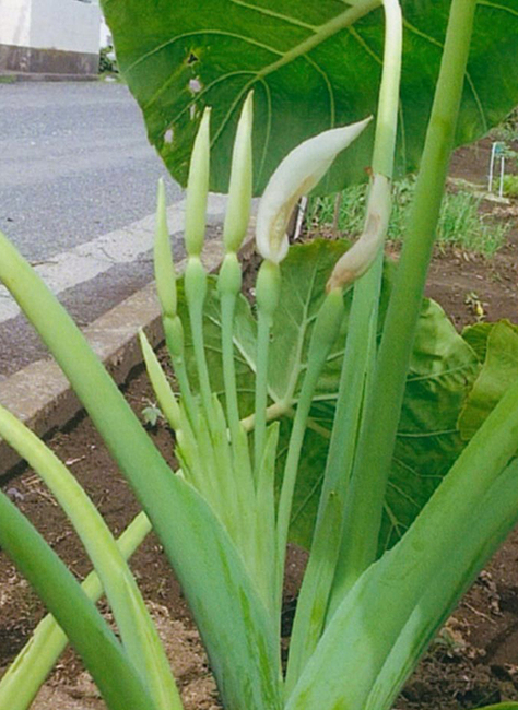
[[[210,173],[210,118],[211,109],[203,113],[190,158],[186,202],[186,249],[191,257],[199,257],[205,237],[207,199]]]

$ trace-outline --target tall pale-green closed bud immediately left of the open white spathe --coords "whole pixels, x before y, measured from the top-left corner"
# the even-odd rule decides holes
[[[238,251],[245,238],[250,218],[252,189],[251,130],[254,123],[254,92],[243,106],[237,125],[236,140],[232,155],[228,204],[223,227],[225,251]]]

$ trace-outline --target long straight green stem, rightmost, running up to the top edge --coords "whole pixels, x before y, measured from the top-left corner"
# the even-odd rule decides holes
[[[454,0],[403,245],[351,482],[335,605],[376,558],[387,478],[468,62],[475,0]]]

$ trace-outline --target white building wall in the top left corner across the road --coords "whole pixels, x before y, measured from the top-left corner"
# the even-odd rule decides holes
[[[0,7],[5,0],[0,0]],[[16,0],[8,0],[16,4]],[[31,3],[30,46],[97,54],[101,10],[98,4],[79,0],[17,0]]]

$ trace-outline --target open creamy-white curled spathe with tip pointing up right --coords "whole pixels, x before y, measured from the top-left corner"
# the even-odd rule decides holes
[[[372,117],[323,131],[297,145],[271,176],[259,203],[256,222],[257,250],[279,263],[287,253],[286,226],[303,194],[320,182],[339,153],[350,145]]]

